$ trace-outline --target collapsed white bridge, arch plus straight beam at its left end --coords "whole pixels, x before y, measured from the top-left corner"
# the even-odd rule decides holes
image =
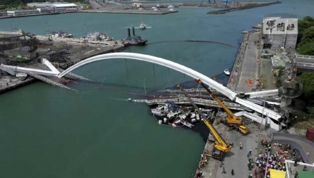
[[[158,58],[156,56],[150,56],[150,55],[145,55],[145,54],[140,54],[140,53],[106,53],[106,54],[101,54],[98,56],[93,56],[91,58],[87,58],[83,61],[80,61],[76,63],[74,66],[71,66],[70,68],[64,70],[62,73],[60,73],[57,70],[38,70],[38,69],[33,69],[33,68],[19,68],[15,66],[6,66],[1,64],[1,69],[6,70],[9,69],[11,72],[12,70],[16,72],[32,72],[32,73],[39,73],[40,75],[50,75],[50,76],[55,76],[58,78],[62,78],[64,75],[67,73],[70,73],[72,70],[75,70],[76,68],[79,68],[81,66],[86,65],[87,63],[92,63],[95,61],[102,61],[102,60],[107,60],[107,59],[115,59],[115,58],[126,58],[126,59],[133,59],[133,60],[138,60],[138,61],[146,61],[149,63],[156,63],[161,66],[165,66],[167,68],[171,68],[173,70],[177,70],[180,73],[184,73],[191,78],[195,79],[201,79],[203,83],[208,85],[211,89],[216,90],[217,92],[226,95],[230,100],[233,100],[234,102],[245,106],[246,108],[250,108],[251,110],[254,110],[255,112],[258,112],[262,115],[265,115],[266,117],[270,118],[268,120],[268,123],[270,124],[270,127],[275,129],[275,130],[280,130],[280,118],[281,115],[279,115],[277,112],[274,112],[273,110],[269,110],[268,108],[263,108],[260,105],[257,105],[255,103],[252,103],[248,100],[244,100],[242,98],[239,98],[237,93],[233,92],[232,90],[226,88],[225,86],[221,85],[220,83],[216,82],[215,80],[209,78],[206,75],[203,75],[201,73],[198,73],[198,71],[193,70],[191,68],[188,68],[186,66],[183,66],[181,64],[175,63],[173,61],[168,61],[163,58]],[[254,120],[256,122],[260,122],[263,124],[266,124],[265,120],[263,117],[258,116],[257,114],[255,115],[250,115],[249,117],[251,120]]]

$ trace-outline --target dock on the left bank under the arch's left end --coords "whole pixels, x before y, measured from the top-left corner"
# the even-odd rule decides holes
[[[57,36],[40,36],[31,35],[23,31],[0,31],[0,38],[3,43],[0,45],[0,51],[6,55],[6,51],[10,50],[7,65],[9,66],[22,66],[24,68],[33,68],[38,70],[51,70],[55,69],[57,72],[62,72],[69,66],[75,63],[96,56],[101,53],[111,53],[121,51],[129,45],[126,41],[111,41],[111,40],[90,40],[85,38],[61,38]],[[35,48],[34,46],[39,46]],[[29,46],[30,50],[21,50],[22,46]],[[34,53],[40,51],[42,61],[46,62],[46,58],[52,63],[37,63],[34,61]],[[16,60],[16,56],[21,59]],[[33,56],[33,57],[32,57]],[[47,66],[48,65],[48,66]],[[10,72],[9,72],[10,73]],[[29,83],[33,83],[36,79],[44,81],[54,86],[61,88],[71,89],[66,86],[70,80],[88,80],[80,75],[68,73],[64,78],[56,78],[52,76],[44,76],[39,73],[32,73],[31,71],[22,72],[23,75],[16,77],[15,73],[11,75],[4,73],[0,75],[0,93],[9,90],[14,90]],[[17,75],[17,74],[16,74]]]

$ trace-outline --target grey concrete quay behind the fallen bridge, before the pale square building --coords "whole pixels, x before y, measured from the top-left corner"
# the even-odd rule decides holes
[[[244,34],[227,85],[231,90],[249,93],[275,89],[271,61],[260,58],[260,36],[260,32]]]

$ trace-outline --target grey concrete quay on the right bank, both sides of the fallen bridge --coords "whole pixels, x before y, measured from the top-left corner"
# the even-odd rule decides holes
[[[240,44],[236,61],[231,72],[231,76],[228,81],[227,87],[231,90],[238,92],[248,93],[251,91],[259,90],[257,88],[256,81],[258,78],[265,78],[265,80],[272,81],[273,73],[271,73],[271,62],[269,59],[260,58],[260,33],[248,32],[244,33],[243,41]],[[271,82],[270,82],[271,83]],[[273,85],[268,85],[265,89],[273,88]],[[218,115],[216,120],[223,119],[225,115]],[[242,135],[236,130],[226,130],[225,125],[214,125],[218,132],[221,133],[221,137],[228,143],[232,143],[234,147],[231,152],[226,154],[223,162],[216,159],[209,159],[208,164],[201,169],[203,172],[202,177],[248,177],[249,174],[253,174],[252,170],[248,170],[247,163],[248,157],[246,154],[251,149],[253,154],[256,155],[260,152],[259,142],[263,139],[270,140],[270,130],[261,132],[259,124],[253,121],[245,120],[245,126],[250,130],[250,134]],[[208,140],[214,140],[210,134]],[[240,150],[240,142],[243,145],[243,150]],[[204,153],[211,153],[213,150],[213,143],[206,142]],[[223,174],[223,167],[226,174]],[[231,175],[231,169],[234,169],[235,175]]]

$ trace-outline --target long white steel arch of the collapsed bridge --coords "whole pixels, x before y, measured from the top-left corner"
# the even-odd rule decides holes
[[[263,115],[267,115],[268,117],[274,120],[278,120],[281,117],[280,115],[278,115],[277,112],[273,112],[272,110],[263,108],[260,105],[256,105],[255,103],[252,103],[248,100],[243,100],[236,97],[237,94],[234,93],[232,90],[226,88],[225,86],[207,77],[206,75],[198,73],[196,70],[187,68],[186,66],[182,66],[181,64],[178,64],[178,63],[174,63],[173,61],[168,61],[163,58],[158,58],[155,56],[149,56],[149,55],[140,54],[140,53],[106,53],[106,54],[101,54],[98,56],[93,56],[91,58],[86,58],[85,60],[80,61],[79,63],[76,63],[74,66],[71,66],[70,68],[64,70],[64,72],[59,73],[58,77],[61,78],[64,75],[66,75],[66,73],[69,73],[72,70],[79,68],[87,63],[92,63],[95,61],[101,61],[101,60],[106,60],[106,59],[113,59],[113,58],[127,58],[127,59],[134,59],[138,61],[146,61],[149,63],[156,63],[158,65],[165,66],[173,70],[177,70],[178,72],[189,75],[192,78],[201,79],[203,83],[205,83],[206,85],[209,85],[211,88],[217,90],[219,93],[226,95],[226,97],[230,98],[236,103],[239,103],[240,105],[244,105],[245,107],[250,108],[251,110],[255,110],[256,112],[263,113]]]

